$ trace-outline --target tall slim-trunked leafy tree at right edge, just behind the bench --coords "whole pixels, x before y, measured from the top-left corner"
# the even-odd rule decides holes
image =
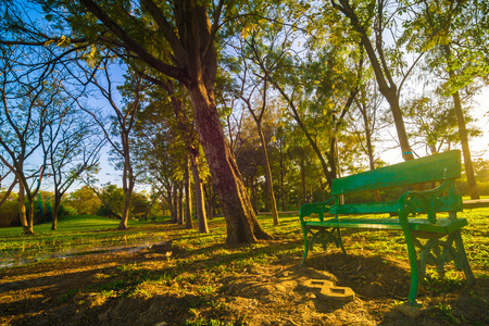
[[[489,73],[487,51],[482,50],[489,38],[480,24],[488,8],[479,1],[438,1],[422,2],[415,9],[415,17],[405,24],[405,39],[413,48],[430,51],[428,64],[443,80],[439,92],[453,100],[471,198],[478,199],[461,92],[474,88],[476,79]]]

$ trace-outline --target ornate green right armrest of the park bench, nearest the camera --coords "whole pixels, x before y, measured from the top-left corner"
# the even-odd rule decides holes
[[[437,212],[444,211],[443,208],[453,208],[457,211],[456,208],[462,206],[462,199],[459,196],[449,197],[448,202],[441,199],[441,195],[452,186],[453,180],[449,179],[434,189],[404,192],[398,200],[399,216],[408,218],[409,215],[426,213],[430,223],[437,223]]]

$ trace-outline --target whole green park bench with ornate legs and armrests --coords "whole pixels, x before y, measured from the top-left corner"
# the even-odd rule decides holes
[[[427,263],[435,264],[443,275],[446,262],[453,260],[455,268],[464,271],[468,284],[474,284],[461,237],[467,220],[456,217],[456,212],[462,211],[462,198],[455,195],[454,185],[460,175],[461,153],[454,150],[333,180],[329,200],[303,204],[299,211],[304,235],[302,264],[316,242],[324,249],[333,242],[346,253],[341,228],[402,230],[411,265],[408,297],[411,305],[416,305],[418,281],[425,276]],[[348,200],[352,193],[408,186],[422,188],[419,185],[426,188],[427,184],[432,189],[408,190],[396,201],[350,203]],[[340,203],[342,196],[347,199],[344,204]],[[448,213],[444,214],[448,217],[437,216],[440,212]],[[351,216],[386,213],[396,216]]]

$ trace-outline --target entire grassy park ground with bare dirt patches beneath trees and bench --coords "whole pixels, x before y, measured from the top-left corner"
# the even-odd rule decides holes
[[[469,223],[463,239],[477,285],[467,287],[461,272],[438,278],[431,269],[421,297],[432,309],[415,324],[489,323],[489,208],[459,215]],[[121,318],[133,325],[414,323],[393,309],[409,291],[402,233],[347,230],[348,254],[315,249],[300,266],[299,217],[279,220],[274,226],[271,215],[259,216],[274,240],[236,247],[224,244],[223,217],[209,221],[208,235],[168,224],[166,217],[130,221],[126,231],[114,230],[118,221],[98,216],[65,217],[57,231],[38,225],[35,236],[0,229],[0,264],[23,261],[0,268],[0,288],[11,289],[3,297],[0,290],[0,305],[9,311],[0,324],[120,325]],[[321,300],[302,286],[311,278],[350,287],[356,299]]]

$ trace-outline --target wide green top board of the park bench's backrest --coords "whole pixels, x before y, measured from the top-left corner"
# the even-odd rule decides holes
[[[452,150],[333,180],[331,193],[346,195],[422,183],[456,179],[461,152]]]

